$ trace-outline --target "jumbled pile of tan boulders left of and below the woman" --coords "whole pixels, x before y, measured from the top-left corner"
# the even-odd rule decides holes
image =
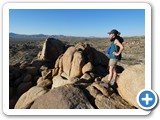
[[[9,107],[15,109],[135,108],[132,106],[135,104],[128,101],[129,104],[125,97],[119,96],[116,88],[105,89],[99,85],[99,82],[108,75],[108,61],[106,55],[89,44],[65,45],[57,39],[48,38],[36,60],[10,66]],[[122,67],[118,67],[120,73],[122,70]],[[118,85],[121,88],[120,84]]]

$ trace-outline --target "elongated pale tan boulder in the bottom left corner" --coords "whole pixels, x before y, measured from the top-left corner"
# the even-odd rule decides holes
[[[17,101],[15,109],[27,109],[30,108],[34,100],[41,95],[45,94],[47,90],[42,87],[34,86],[25,92]]]

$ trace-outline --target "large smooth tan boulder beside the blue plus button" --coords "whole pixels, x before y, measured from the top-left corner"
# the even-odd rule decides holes
[[[139,108],[137,94],[145,88],[145,65],[134,65],[126,68],[117,80],[118,92],[123,99]]]

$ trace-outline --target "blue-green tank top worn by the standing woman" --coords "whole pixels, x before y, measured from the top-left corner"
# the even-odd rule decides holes
[[[119,46],[114,44],[115,39],[111,39],[111,50],[109,53],[109,57],[110,59],[118,59],[119,56],[115,56],[114,54],[112,54],[113,52],[118,52],[119,51]]]

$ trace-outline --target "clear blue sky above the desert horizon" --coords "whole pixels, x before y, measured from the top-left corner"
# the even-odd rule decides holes
[[[122,36],[145,35],[144,9],[11,9],[9,32],[107,37],[111,29]]]

